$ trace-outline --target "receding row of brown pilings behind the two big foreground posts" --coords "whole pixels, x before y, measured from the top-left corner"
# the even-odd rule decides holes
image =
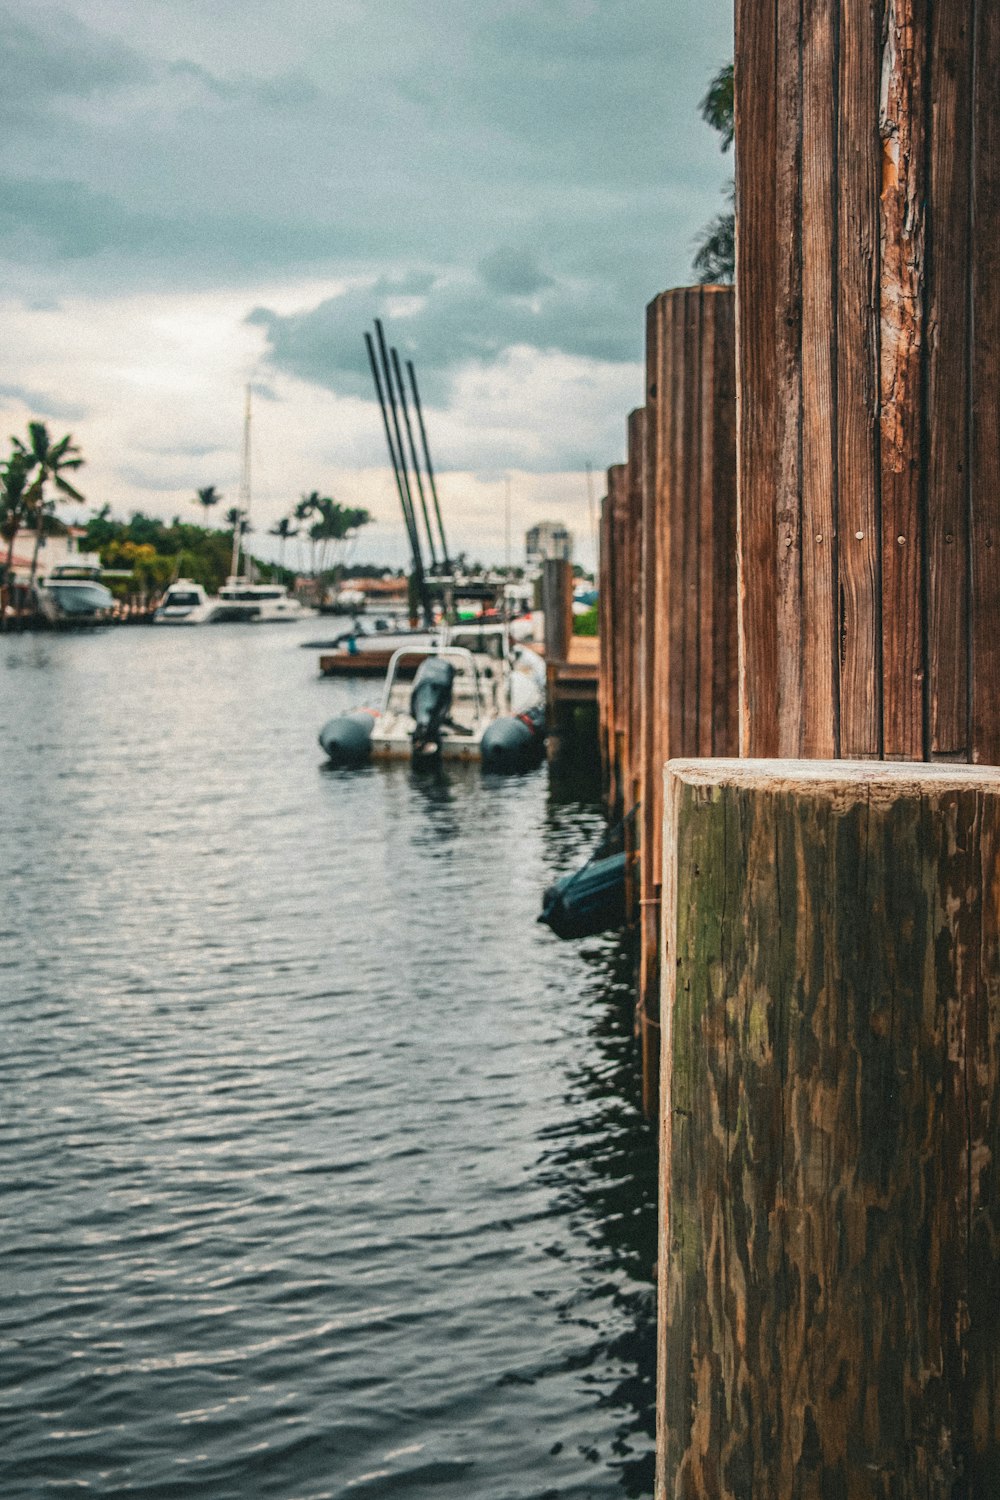
[[[736,754],[736,364],[729,286],[663,292],[646,310],[646,405],[601,507],[601,746],[627,819],[639,930],[643,1098],[660,1064],[663,765]]]

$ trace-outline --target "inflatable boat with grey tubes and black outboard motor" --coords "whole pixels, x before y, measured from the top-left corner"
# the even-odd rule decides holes
[[[412,684],[403,668],[415,663]],[[486,770],[537,765],[544,752],[544,663],[504,626],[447,630],[441,644],[399,646],[381,702],[330,718],[319,744],[334,765],[481,760]]]

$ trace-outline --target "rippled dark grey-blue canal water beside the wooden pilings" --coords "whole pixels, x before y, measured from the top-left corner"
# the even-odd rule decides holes
[[[651,1494],[597,808],[322,766],[315,633],[0,638],[0,1494]]]

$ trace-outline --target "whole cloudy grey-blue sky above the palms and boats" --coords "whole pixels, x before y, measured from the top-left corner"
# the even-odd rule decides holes
[[[402,562],[382,316],[453,549],[502,560],[510,483],[516,538],[564,519],[589,561],[645,303],[691,279],[732,171],[697,110],[732,0],[21,0],[0,26],[4,430],[72,430],[93,506],[195,519],[198,486],[235,502],[250,381],[255,530],[319,489]]]

